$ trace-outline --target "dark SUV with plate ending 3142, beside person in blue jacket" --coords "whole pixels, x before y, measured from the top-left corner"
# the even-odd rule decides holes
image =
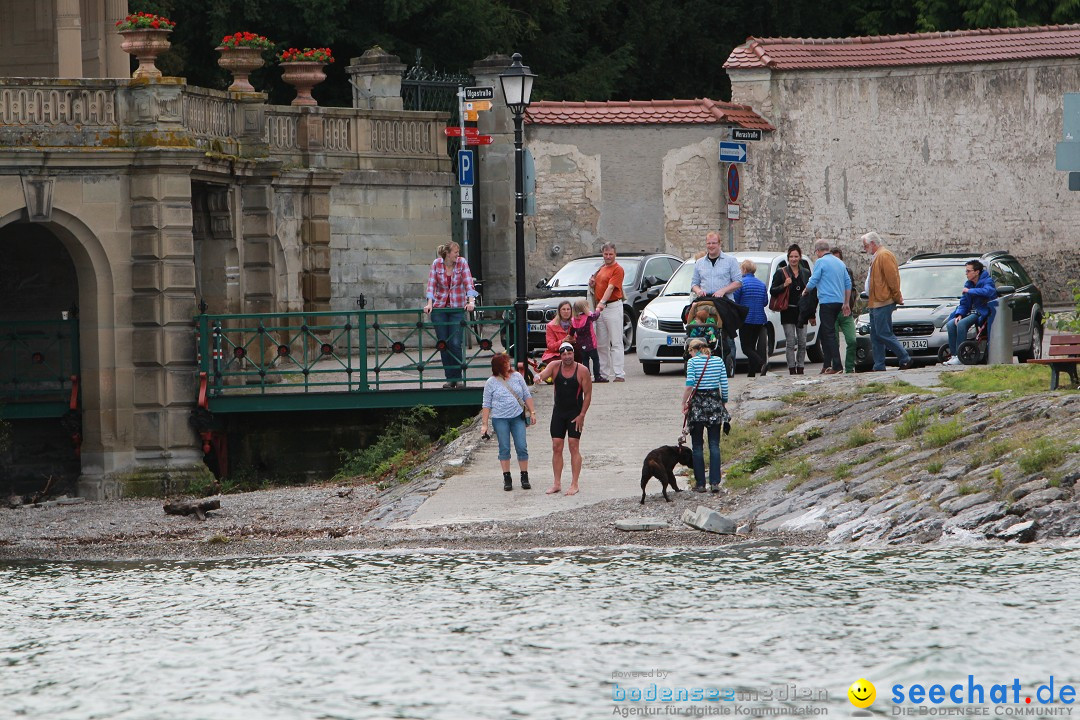
[[[945,321],[956,310],[963,290],[963,264],[978,259],[998,286],[998,303],[1012,304],[1013,352],[1025,361],[1042,355],[1042,293],[1031,282],[1020,260],[1004,250],[974,253],[924,253],[900,266],[900,290],[904,304],[892,315],[892,329],[915,362],[949,358]],[[998,320],[1001,315],[998,314]],[[1000,331],[995,320],[990,332]],[[873,365],[869,315],[855,322],[855,364]],[[890,356],[891,353],[890,353]]]

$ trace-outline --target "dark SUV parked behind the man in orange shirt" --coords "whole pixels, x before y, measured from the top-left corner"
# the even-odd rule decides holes
[[[546,345],[546,325],[555,317],[563,300],[580,300],[589,293],[589,279],[604,262],[604,256],[590,255],[570,260],[550,279],[537,283],[539,297],[529,298],[529,350]],[[616,257],[624,273],[622,294],[622,344],[626,351],[634,347],[637,316],[660,288],[672,276],[683,260],[663,253],[626,253]]]

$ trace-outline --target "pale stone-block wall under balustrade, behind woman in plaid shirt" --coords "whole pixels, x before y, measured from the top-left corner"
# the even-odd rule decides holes
[[[330,191],[332,310],[423,304],[435,248],[450,239],[446,173],[347,173]]]

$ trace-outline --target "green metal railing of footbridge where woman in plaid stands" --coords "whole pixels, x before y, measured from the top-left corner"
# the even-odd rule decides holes
[[[478,404],[490,358],[512,347],[513,309],[433,322],[420,310],[199,315],[200,404],[215,412]],[[436,328],[462,335],[443,364]],[[445,370],[461,370],[446,390]]]

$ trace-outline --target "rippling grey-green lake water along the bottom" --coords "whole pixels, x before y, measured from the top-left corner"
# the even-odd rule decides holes
[[[847,718],[860,678],[891,717],[894,684],[969,675],[1050,715],[1072,708],[1023,697],[1080,681],[1077,567],[1031,547],[0,563],[0,718]],[[630,699],[650,687],[737,699]]]

